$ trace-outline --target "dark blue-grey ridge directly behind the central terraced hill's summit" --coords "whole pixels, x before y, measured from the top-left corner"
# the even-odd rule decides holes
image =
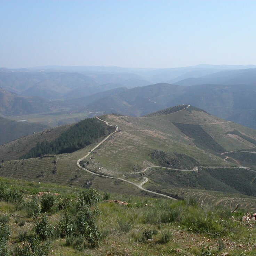
[[[86,107],[92,112],[142,116],[187,103],[208,113],[256,128],[254,85],[178,86],[168,83],[137,87],[100,97]],[[79,101],[79,100],[78,100]]]

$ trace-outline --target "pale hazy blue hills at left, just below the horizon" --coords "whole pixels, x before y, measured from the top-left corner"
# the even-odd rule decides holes
[[[89,73],[51,70],[0,72],[0,87],[23,95],[45,99],[77,98],[120,86],[133,88],[150,82],[131,73]]]

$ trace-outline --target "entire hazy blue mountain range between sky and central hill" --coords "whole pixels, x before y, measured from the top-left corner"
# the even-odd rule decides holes
[[[0,116],[63,111],[142,116],[189,104],[256,128],[255,87],[253,65],[1,68]]]

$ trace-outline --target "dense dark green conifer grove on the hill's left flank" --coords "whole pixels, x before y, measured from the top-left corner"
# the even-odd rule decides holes
[[[21,159],[41,157],[45,154],[71,153],[94,143],[112,129],[114,128],[107,127],[96,118],[87,118],[70,127],[54,141],[38,143]]]

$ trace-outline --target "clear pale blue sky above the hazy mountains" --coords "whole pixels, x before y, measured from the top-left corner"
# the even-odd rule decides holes
[[[256,1],[0,0],[0,67],[256,64]]]

